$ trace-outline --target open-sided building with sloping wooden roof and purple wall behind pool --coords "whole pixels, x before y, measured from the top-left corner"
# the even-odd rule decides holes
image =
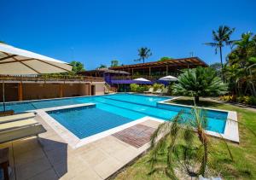
[[[158,80],[167,75],[177,77],[181,70],[195,67],[208,67],[199,57],[171,59],[131,64],[119,67],[101,68],[84,71],[81,75],[102,77],[116,91],[130,91],[130,84],[168,84]],[[150,82],[137,82],[135,78],[147,78]],[[113,90],[114,91],[114,90]]]

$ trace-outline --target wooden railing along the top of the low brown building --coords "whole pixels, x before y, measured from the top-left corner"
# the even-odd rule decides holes
[[[26,76],[1,76],[0,81],[34,81],[34,82],[49,82],[49,81],[64,81],[64,82],[103,82],[104,78],[91,76],[70,76],[70,75],[26,75]],[[1,82],[0,82],[1,83]]]

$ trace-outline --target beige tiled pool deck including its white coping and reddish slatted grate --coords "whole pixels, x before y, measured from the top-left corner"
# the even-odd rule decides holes
[[[159,103],[166,104],[166,101]],[[0,144],[0,148],[9,147],[10,150],[9,159],[13,169],[10,179],[108,178],[148,149],[149,136],[163,122],[161,119],[144,117],[80,140],[46,113],[82,106],[95,104],[85,103],[36,110],[36,119],[47,130],[39,135],[40,143],[36,137],[31,137]],[[223,137],[239,142],[236,112],[228,113]],[[207,133],[220,136],[212,131]]]

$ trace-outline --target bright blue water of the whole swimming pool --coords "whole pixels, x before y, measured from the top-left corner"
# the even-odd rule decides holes
[[[158,119],[172,119],[181,110],[189,116],[190,107],[179,107],[159,104],[168,98],[159,96],[142,96],[116,94],[108,96],[73,97],[58,100],[9,103],[7,109],[23,112],[46,107],[58,107],[80,103],[96,103],[96,107],[73,108],[68,111],[54,111],[49,115],[64,125],[79,138],[107,131],[113,127],[124,125],[135,119],[151,116]],[[207,130],[224,132],[227,113],[207,110]]]

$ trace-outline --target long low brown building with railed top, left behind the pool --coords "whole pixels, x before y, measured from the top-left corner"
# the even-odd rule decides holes
[[[0,82],[6,102],[103,95],[105,90],[103,78],[88,76],[0,76]],[[2,93],[0,100],[3,102]]]

